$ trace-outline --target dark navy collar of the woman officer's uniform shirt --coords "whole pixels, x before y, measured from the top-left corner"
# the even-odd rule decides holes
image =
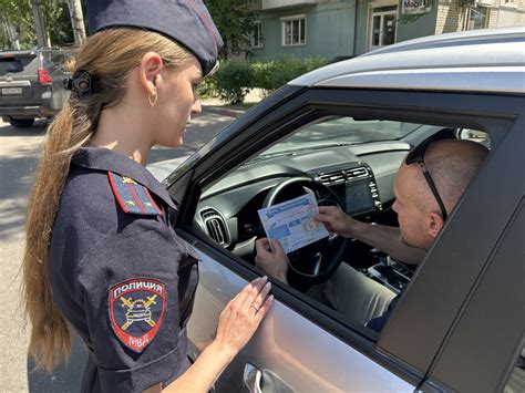
[[[124,157],[109,148],[92,146],[81,147],[73,156],[72,162],[85,168],[109,170],[121,176],[131,177],[162,198],[169,207],[176,209],[166,187],[136,161]]]

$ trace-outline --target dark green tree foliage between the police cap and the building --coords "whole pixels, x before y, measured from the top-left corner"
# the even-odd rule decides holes
[[[225,45],[220,56],[246,53],[257,12],[250,0],[204,0]]]

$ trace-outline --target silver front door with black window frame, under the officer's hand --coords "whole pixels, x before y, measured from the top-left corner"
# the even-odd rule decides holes
[[[507,111],[505,104],[518,111],[517,102],[505,97],[465,101],[462,94],[454,93],[286,86],[227,127],[167,179],[169,193],[179,204],[176,229],[202,258],[200,281],[188,325],[193,355],[198,355],[213,339],[227,301],[260,275],[260,270],[210,240],[196,224],[198,200],[208,184],[308,122],[341,113],[482,128],[491,134],[495,149],[515,118],[487,113],[493,113],[494,107]],[[457,211],[462,211],[463,205]],[[421,312],[421,304],[435,303],[435,293],[421,288],[435,282],[435,276],[429,276],[434,270],[434,260],[449,258],[440,250],[454,246],[446,234],[449,227],[462,226],[462,221],[456,221],[452,215],[379,337],[340,321],[299,291],[272,280],[275,306],[217,381],[216,390],[241,391],[249,385],[251,391],[413,391],[424,383],[434,356],[454,328],[465,293],[473,287],[472,281],[463,282],[450,272],[456,286],[451,294],[453,301],[439,313]],[[471,265],[471,275],[476,276],[482,268],[474,261]],[[439,289],[437,292],[443,290]]]

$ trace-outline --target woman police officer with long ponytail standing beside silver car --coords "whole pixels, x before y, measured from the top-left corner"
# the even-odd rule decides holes
[[[181,145],[222,40],[202,1],[93,0],[87,11],[96,33],[75,56],[29,205],[30,351],[51,369],[71,324],[90,352],[82,391],[207,391],[266,314],[270,286],[237,294],[189,366],[196,258],[143,165],[153,145]]]

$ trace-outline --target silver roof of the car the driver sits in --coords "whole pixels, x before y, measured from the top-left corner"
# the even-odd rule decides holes
[[[400,42],[315,70],[289,84],[525,94],[525,28]]]

